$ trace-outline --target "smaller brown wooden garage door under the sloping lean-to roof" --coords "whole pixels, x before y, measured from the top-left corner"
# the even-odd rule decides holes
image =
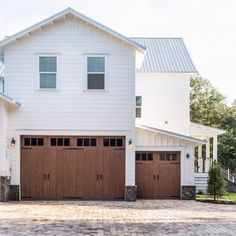
[[[136,152],[139,198],[180,198],[180,153]]]

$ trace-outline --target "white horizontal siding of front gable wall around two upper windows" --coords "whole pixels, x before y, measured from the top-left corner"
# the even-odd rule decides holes
[[[86,90],[86,55],[106,56],[105,91]],[[39,89],[39,55],[58,58],[55,91]],[[126,138],[135,134],[135,50],[80,20],[65,19],[43,27],[4,50],[5,93],[21,103],[9,116],[8,136],[45,131],[104,131]],[[50,132],[46,132],[50,130]],[[60,132],[61,131],[61,132]],[[19,184],[20,151],[11,160],[12,182]],[[12,151],[13,152],[13,151]],[[14,159],[15,158],[15,159]],[[129,164],[130,163],[130,164]],[[126,169],[134,163],[134,148],[126,151]],[[134,168],[126,184],[134,184]],[[15,174],[16,172],[16,174]]]

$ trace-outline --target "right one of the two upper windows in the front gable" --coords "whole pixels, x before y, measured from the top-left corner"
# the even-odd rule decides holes
[[[87,89],[105,89],[105,57],[87,57]]]

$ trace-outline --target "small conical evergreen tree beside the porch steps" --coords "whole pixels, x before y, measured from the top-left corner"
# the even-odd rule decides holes
[[[220,198],[225,192],[224,175],[219,164],[214,163],[208,172],[208,194],[216,198]]]

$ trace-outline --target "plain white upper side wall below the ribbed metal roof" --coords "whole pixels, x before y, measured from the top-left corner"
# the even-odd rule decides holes
[[[137,73],[136,95],[142,96],[142,117],[136,122],[189,135],[189,91],[188,74]]]

